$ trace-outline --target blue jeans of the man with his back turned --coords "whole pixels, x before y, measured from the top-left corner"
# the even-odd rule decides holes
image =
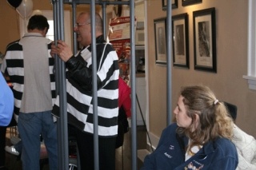
[[[19,113],[18,131],[22,139],[22,169],[40,169],[40,134],[46,144],[50,170],[58,169],[57,126],[51,111]]]

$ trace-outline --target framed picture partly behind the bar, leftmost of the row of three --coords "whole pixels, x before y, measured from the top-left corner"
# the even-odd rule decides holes
[[[154,19],[154,42],[157,64],[166,64],[166,18]]]

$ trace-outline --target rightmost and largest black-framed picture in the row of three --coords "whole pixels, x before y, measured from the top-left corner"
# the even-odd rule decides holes
[[[217,72],[215,9],[193,12],[194,69]]]

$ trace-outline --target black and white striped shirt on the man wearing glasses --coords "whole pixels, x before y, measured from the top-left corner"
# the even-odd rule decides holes
[[[97,42],[97,41],[96,41]],[[102,51],[105,53],[102,55]],[[112,45],[97,42],[97,76],[102,81],[98,89],[98,136],[116,136],[118,134],[118,55]],[[78,53],[76,58],[92,69],[91,48],[88,46]],[[94,133],[92,93],[79,85],[73,75],[67,71],[66,96],[68,121],[84,132]],[[59,98],[57,97],[53,113],[59,117]]]

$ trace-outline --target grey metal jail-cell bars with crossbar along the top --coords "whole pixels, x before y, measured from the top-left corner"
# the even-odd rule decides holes
[[[64,40],[64,25],[63,25],[63,3],[72,5],[73,10],[73,25],[76,20],[76,6],[79,4],[90,4],[90,14],[91,14],[91,29],[92,29],[92,65],[93,65],[93,95],[94,95],[94,169],[98,170],[98,100],[97,100],[97,69],[96,69],[96,40],[95,40],[95,4],[102,5],[102,19],[103,19],[103,34],[106,38],[106,5],[129,5],[130,6],[130,86],[131,86],[131,100],[132,100],[132,117],[131,117],[131,133],[132,133],[132,169],[137,169],[137,105],[136,105],[136,77],[135,77],[135,38],[134,38],[134,25],[135,25],[135,16],[134,16],[134,0],[130,1],[102,1],[102,0],[53,0],[54,5],[54,41],[58,39]],[[166,6],[166,46],[171,46],[171,3],[170,0],[167,0]],[[76,43],[76,34],[74,33],[74,53],[77,52],[77,43]],[[172,53],[171,48],[166,48],[166,72],[167,72],[167,125],[170,125],[171,122],[171,58]],[[59,156],[59,169],[68,169],[68,136],[67,136],[67,117],[66,117],[66,77],[65,77],[65,63],[59,61],[59,58],[56,57],[56,77],[57,77],[57,89],[60,94],[60,112],[61,117],[58,121],[58,156]]]

